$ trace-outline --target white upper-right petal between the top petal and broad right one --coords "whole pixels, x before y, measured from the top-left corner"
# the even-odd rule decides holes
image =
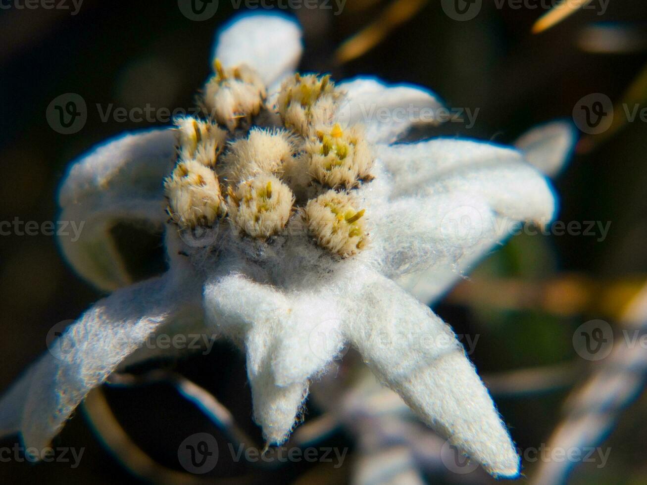
[[[436,123],[443,107],[431,91],[412,85],[389,86],[373,78],[357,78],[337,85],[347,96],[338,112],[345,125],[366,126],[366,139],[391,143],[411,125]]]

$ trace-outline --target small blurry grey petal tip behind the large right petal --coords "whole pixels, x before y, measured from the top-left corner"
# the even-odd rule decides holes
[[[549,177],[557,175],[569,159],[577,131],[572,123],[550,122],[534,127],[514,142],[525,159]]]

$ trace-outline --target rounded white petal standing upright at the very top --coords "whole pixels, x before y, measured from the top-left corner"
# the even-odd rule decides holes
[[[247,64],[256,69],[266,86],[296,69],[303,46],[296,21],[280,14],[237,16],[218,35],[214,59],[224,67]]]

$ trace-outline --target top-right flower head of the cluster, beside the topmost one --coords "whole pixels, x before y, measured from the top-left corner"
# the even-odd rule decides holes
[[[297,73],[281,86],[278,111],[285,127],[305,136],[312,124],[332,119],[340,96],[329,75]]]

